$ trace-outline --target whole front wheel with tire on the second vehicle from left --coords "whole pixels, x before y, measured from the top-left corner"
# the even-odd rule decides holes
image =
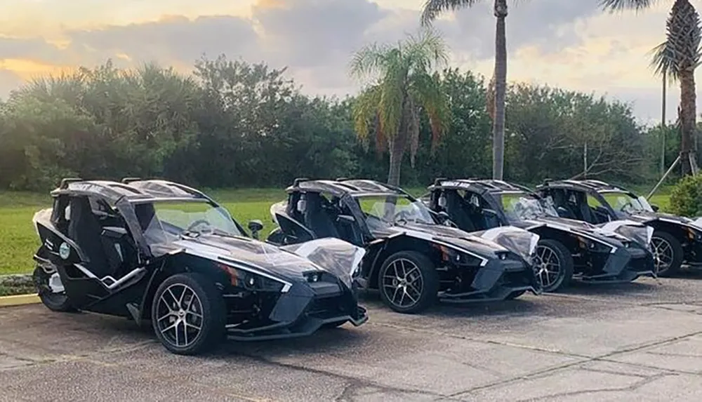
[[[378,275],[380,298],[399,313],[417,313],[437,299],[439,274],[423,254],[400,251],[390,255]]]

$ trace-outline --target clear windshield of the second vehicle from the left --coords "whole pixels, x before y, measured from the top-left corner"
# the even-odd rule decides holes
[[[404,194],[368,195],[355,197],[366,216],[369,229],[413,222],[435,225],[429,208],[419,200],[412,201]]]

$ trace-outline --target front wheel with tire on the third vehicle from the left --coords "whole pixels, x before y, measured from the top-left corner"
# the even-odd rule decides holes
[[[573,256],[563,243],[541,239],[536,244],[536,278],[544,292],[555,292],[568,286],[573,277]]]

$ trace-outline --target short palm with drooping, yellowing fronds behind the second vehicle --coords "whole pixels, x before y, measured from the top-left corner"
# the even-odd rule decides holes
[[[437,68],[448,62],[447,53],[441,36],[423,30],[397,46],[373,43],[352,58],[352,76],[377,79],[355,100],[353,119],[356,133],[364,143],[372,125],[376,149],[383,152],[386,145],[389,147],[390,185],[399,185],[402,159],[408,146],[414,167],[421,114],[429,118],[432,152],[446,130],[448,106]]]

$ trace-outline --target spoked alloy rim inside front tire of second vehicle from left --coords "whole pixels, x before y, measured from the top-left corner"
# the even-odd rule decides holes
[[[419,267],[410,260],[393,261],[383,274],[383,292],[397,307],[411,307],[420,300],[424,280]]]

